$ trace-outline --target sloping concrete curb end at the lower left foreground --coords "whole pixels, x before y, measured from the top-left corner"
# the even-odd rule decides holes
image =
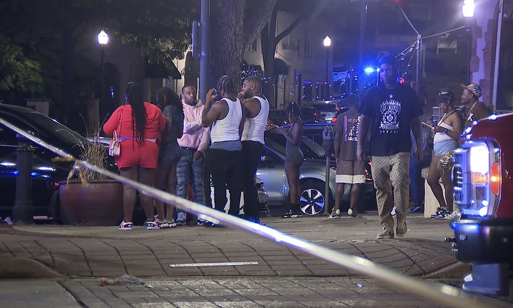
[[[0,279],[67,278],[30,258],[0,258]]]

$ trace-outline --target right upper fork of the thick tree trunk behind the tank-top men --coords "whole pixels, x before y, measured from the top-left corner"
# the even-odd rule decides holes
[[[246,0],[246,3],[248,2],[249,1]],[[261,0],[254,2],[258,3],[258,6],[254,5],[254,3],[250,5],[249,9],[246,11],[247,13],[244,14],[245,47],[251,44],[262,28],[264,28],[276,2],[277,0]]]

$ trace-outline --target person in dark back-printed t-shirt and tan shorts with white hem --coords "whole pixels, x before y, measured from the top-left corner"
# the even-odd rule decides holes
[[[358,217],[356,209],[360,196],[360,184],[365,183],[365,162],[359,161],[356,156],[358,144],[358,125],[360,121],[360,99],[358,95],[351,94],[347,99],[349,110],[341,113],[335,122],[334,151],[337,162],[337,190],[335,206],[329,218],[340,218],[340,204],[344,194],[344,184],[351,185],[351,202],[347,211],[348,217]]]

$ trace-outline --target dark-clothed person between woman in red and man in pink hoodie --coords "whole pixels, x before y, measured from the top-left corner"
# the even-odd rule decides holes
[[[166,117],[166,129],[160,134],[159,161],[155,174],[155,187],[176,194],[176,164],[182,157],[182,150],[177,138],[182,137],[184,111],[180,97],[170,88],[160,88],[156,94],[157,104]],[[163,229],[174,228],[174,206],[155,199],[157,223]]]

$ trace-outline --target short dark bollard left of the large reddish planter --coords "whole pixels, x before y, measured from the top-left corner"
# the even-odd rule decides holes
[[[32,224],[34,209],[32,207],[32,147],[25,137],[18,135],[16,148],[16,199],[12,207],[14,223]]]

